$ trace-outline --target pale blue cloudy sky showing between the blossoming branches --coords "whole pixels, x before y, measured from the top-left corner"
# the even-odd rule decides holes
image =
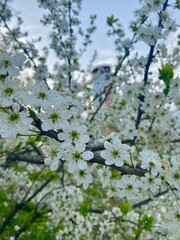
[[[108,27],[106,24],[106,17],[114,15],[118,18],[127,36],[130,36],[128,26],[133,19],[133,11],[139,7],[139,0],[83,0],[82,2],[82,11],[80,14],[82,28],[86,29],[89,26],[89,16],[91,14],[97,14],[97,30],[92,37],[93,44],[88,48],[87,53],[81,59],[81,64],[83,67],[86,67],[95,50],[97,50],[98,53],[95,65],[99,63],[114,64],[116,51],[113,44],[113,38],[107,36]],[[42,42],[38,45],[39,48],[48,46],[50,29],[44,27],[42,23],[39,22],[45,10],[38,7],[37,1],[12,0],[11,6],[14,10],[19,12],[18,14],[24,20],[22,30],[28,31],[29,36],[32,38],[42,37]],[[138,51],[143,53],[143,51],[145,51],[144,46],[139,45]],[[49,65],[52,65],[55,61],[56,57],[51,52],[48,60]]]

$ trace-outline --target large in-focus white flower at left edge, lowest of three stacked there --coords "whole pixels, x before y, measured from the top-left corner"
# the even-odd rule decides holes
[[[3,138],[16,138],[17,134],[27,134],[32,119],[25,109],[21,111],[18,104],[13,104],[9,109],[0,111],[0,134]]]

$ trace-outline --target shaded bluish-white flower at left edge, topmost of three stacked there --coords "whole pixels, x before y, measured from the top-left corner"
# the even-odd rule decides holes
[[[19,70],[17,67],[26,60],[26,57],[23,54],[17,54],[15,56],[10,56],[4,54],[0,56],[0,74],[9,74],[11,76],[18,76]]]

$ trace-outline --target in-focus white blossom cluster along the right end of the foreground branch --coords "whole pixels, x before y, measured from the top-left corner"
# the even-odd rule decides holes
[[[142,176],[122,175],[113,178],[108,168],[100,170],[102,187],[106,187],[109,197],[126,197],[132,199],[138,197],[143,192],[154,195],[160,189],[165,189],[168,184],[174,189],[174,193],[179,196],[180,188],[180,167],[178,159],[172,157],[170,161],[162,160],[159,155],[148,149],[143,149],[137,154],[138,159],[134,159],[136,149],[127,144],[122,144],[118,134],[111,133],[104,138],[104,148],[101,157],[105,159],[107,166],[117,167],[137,167],[144,169]]]

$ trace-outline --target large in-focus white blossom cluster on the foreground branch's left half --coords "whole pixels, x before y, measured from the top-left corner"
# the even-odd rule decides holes
[[[34,121],[40,119],[40,130],[53,130],[57,135],[56,140],[48,139],[41,148],[45,164],[55,171],[60,161],[66,160],[68,171],[75,176],[79,175],[77,183],[83,183],[87,188],[92,182],[87,162],[94,155],[91,151],[86,151],[90,137],[87,127],[78,120],[81,113],[80,102],[49,89],[45,82],[28,84],[26,87],[19,79],[14,78],[16,73],[12,71],[15,64],[22,64],[24,55],[3,57],[3,61],[8,61],[8,64],[0,65],[1,73],[4,74],[1,75],[0,82],[0,118],[3,123],[0,127],[1,136],[13,139],[18,135],[28,136],[35,130]],[[86,181],[81,180],[81,175],[86,176]]]

